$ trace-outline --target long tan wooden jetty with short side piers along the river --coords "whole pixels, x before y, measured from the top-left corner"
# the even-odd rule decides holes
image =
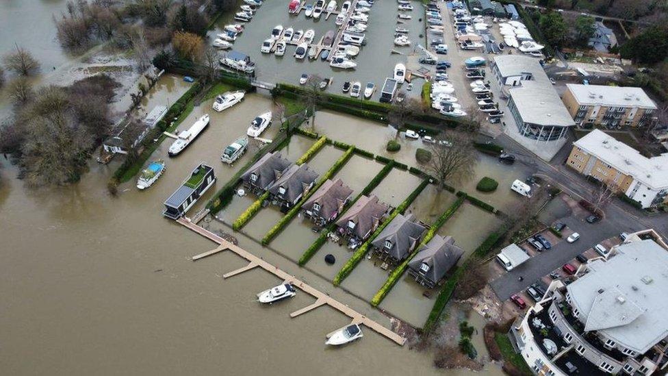
[[[355,2],[357,2],[357,0],[355,0]],[[344,303],[341,303],[333,299],[332,297],[329,297],[329,295],[325,294],[324,292],[316,290],[316,288],[313,288],[312,286],[305,284],[303,281],[297,279],[294,275],[290,275],[285,271],[282,271],[277,266],[274,266],[269,262],[262,260],[256,255],[253,255],[253,253],[250,253],[242,249],[241,247],[233,245],[231,242],[224,240],[220,236],[212,233],[211,231],[203,227],[200,227],[195,223],[190,222],[188,218],[181,217],[177,219],[177,222],[185,227],[188,227],[188,229],[191,229],[197,234],[200,234],[201,236],[204,236],[205,238],[208,238],[209,240],[218,244],[218,247],[216,247],[216,249],[212,249],[211,251],[207,251],[199,255],[194,255],[192,257],[193,261],[201,260],[202,258],[205,258],[209,255],[214,255],[220,251],[225,251],[225,250],[232,251],[233,253],[236,253],[240,257],[248,260],[248,265],[239,268],[235,271],[226,273],[225,275],[223,275],[224,278],[233,277],[234,275],[237,275],[239,273],[244,273],[244,271],[249,271],[254,268],[260,267],[263,268],[265,271],[268,271],[269,273],[272,273],[273,275],[276,275],[277,277],[283,279],[284,283],[292,284],[292,286],[294,286],[295,288],[299,288],[300,290],[303,290],[307,294],[316,298],[316,301],[314,303],[312,303],[311,305],[307,305],[305,308],[292,312],[292,314],[290,314],[290,317],[294,318],[300,316],[301,314],[305,314],[306,312],[309,312],[311,310],[315,310],[316,308],[322,305],[329,305],[331,308],[334,308],[335,310],[338,310],[342,314],[345,314],[346,316],[350,317],[350,319],[352,320],[351,323],[365,325],[369,329],[376,331],[378,334],[385,336],[389,340],[393,340],[400,346],[403,346],[404,343],[406,343],[406,338],[400,336],[399,334],[396,334],[394,331],[387,329],[387,327],[384,327],[380,323],[377,323],[376,321],[373,321],[367,316],[353,310],[352,308],[348,307],[348,305],[345,305]]]

